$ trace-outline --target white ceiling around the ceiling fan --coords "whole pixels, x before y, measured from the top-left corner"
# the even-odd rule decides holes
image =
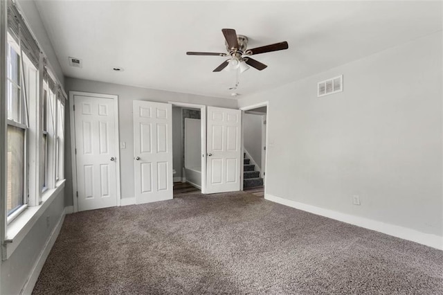
[[[289,43],[286,51],[253,56],[268,68],[239,75],[241,98],[442,30],[441,7],[440,1],[37,0],[66,76],[225,98],[235,72],[213,69],[226,57],[186,55],[225,52],[221,28],[246,35],[248,48]],[[82,69],[69,66],[69,56],[80,58]]]

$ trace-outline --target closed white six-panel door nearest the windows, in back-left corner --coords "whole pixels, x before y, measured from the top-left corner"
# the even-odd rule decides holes
[[[114,99],[74,95],[78,211],[117,206]]]

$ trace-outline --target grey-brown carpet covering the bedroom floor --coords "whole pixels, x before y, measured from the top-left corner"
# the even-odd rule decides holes
[[[67,215],[34,294],[443,294],[443,251],[194,193]]]

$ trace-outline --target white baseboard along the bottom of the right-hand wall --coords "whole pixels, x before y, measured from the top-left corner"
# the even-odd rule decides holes
[[[387,235],[393,235],[397,238],[404,240],[410,240],[419,244],[424,244],[435,249],[443,250],[443,237],[439,235],[432,235],[429,233],[422,233],[414,229],[408,229],[403,226],[397,226],[394,224],[387,224],[376,220],[370,220],[365,217],[359,217],[355,215],[340,213],[325,208],[319,208],[316,206],[295,202],[290,199],[283,199],[282,197],[276,197],[274,195],[265,194],[264,199],[269,201],[296,208],[316,215],[332,218],[341,222],[354,224],[356,226],[363,227],[365,229],[371,229],[372,231],[379,231],[380,233],[386,233]]]

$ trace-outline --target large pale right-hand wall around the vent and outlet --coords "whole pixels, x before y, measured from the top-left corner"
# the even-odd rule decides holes
[[[344,91],[317,98],[316,83],[340,74]],[[265,100],[266,193],[442,236],[441,31],[239,107]]]

